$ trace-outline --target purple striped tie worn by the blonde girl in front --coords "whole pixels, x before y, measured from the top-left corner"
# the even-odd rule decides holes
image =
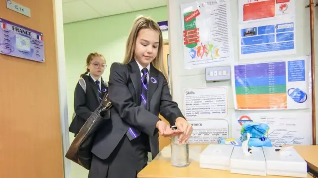
[[[141,97],[141,106],[143,107],[147,107],[147,91],[148,91],[148,82],[147,82],[147,75],[148,75],[148,69],[147,68],[143,68],[141,70],[141,72],[143,73],[143,76],[141,77],[141,93],[140,93],[140,97]],[[129,140],[133,140],[135,138],[137,138],[140,133],[137,133],[136,130],[132,127],[130,127],[126,133],[127,137],[129,138]]]

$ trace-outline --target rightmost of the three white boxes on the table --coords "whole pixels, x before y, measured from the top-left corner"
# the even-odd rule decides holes
[[[307,178],[307,163],[293,147],[275,149],[263,147],[267,175]]]

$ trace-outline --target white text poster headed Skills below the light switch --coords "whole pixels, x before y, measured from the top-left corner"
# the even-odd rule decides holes
[[[185,89],[183,111],[187,120],[226,118],[228,90],[226,87]]]

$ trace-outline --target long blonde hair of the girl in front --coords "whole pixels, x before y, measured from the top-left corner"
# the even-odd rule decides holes
[[[130,29],[129,36],[126,42],[126,52],[125,52],[123,63],[128,64],[131,61],[131,59],[133,59],[137,35],[141,29],[152,29],[159,33],[158,53],[157,53],[157,57],[152,61],[152,64],[157,70],[162,72],[166,80],[168,80],[168,74],[166,72],[164,62],[163,62],[162,32],[159,25],[150,17],[139,16],[134,20],[133,26]]]

